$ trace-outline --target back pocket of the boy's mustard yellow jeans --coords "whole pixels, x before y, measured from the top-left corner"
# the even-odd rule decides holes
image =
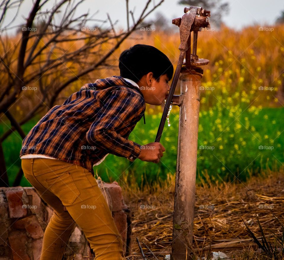
[[[47,189],[56,195],[64,206],[70,206],[80,195],[70,172],[67,172],[56,178],[46,179]]]

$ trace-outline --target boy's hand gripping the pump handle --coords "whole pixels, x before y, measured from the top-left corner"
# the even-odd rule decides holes
[[[139,154],[138,159],[145,162],[159,163],[165,150],[165,147],[162,146],[159,142],[142,145],[141,153]]]

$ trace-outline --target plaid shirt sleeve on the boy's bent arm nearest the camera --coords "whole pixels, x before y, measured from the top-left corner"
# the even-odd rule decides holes
[[[134,161],[141,152],[141,145],[117,132],[125,127],[131,128],[135,119],[144,112],[144,107],[141,95],[129,90],[114,90],[87,131],[87,142],[106,153]]]

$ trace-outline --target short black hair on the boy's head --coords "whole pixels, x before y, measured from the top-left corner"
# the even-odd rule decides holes
[[[170,80],[174,72],[172,62],[164,53],[145,44],[136,44],[123,51],[119,57],[119,69],[121,77],[136,83],[149,72],[153,72],[153,77],[158,82],[164,74]]]

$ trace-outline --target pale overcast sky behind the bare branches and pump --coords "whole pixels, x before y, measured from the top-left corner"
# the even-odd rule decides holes
[[[46,5],[45,9],[50,8],[55,2],[55,0],[50,0],[49,6]],[[159,0],[155,0],[154,2],[158,3]],[[237,30],[253,24],[273,24],[275,19],[284,11],[283,0],[227,0],[226,2],[229,4],[229,13],[224,16],[223,20],[228,26]],[[145,3],[146,0],[129,0],[129,9],[133,10],[135,7],[134,16],[136,18],[140,14]],[[28,16],[31,6],[32,0],[24,1],[14,25],[16,23],[23,23],[23,17]],[[153,4],[151,4],[149,8],[152,6]],[[109,13],[113,21],[119,20],[117,26],[126,28],[125,0],[85,0],[79,5],[76,15],[83,14],[88,9],[91,14],[99,11],[94,16],[96,19],[105,20],[106,13]],[[15,10],[8,13],[7,18],[12,17],[12,12],[15,12]],[[178,4],[177,0],[165,0],[164,3],[148,17],[148,19],[154,19],[156,17],[156,12],[163,13],[163,15],[169,19],[169,25],[171,26],[171,20],[173,18],[181,17],[183,15],[183,5]]]

